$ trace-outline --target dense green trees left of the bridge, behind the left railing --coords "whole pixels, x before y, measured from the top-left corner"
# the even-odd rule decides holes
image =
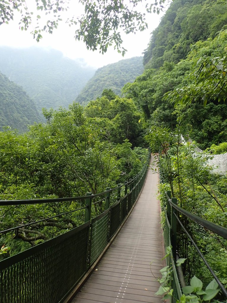
[[[108,91],[108,95],[114,94]],[[85,110],[78,103],[68,110],[44,108],[45,124],[30,125],[25,134],[10,128],[0,132],[0,199],[97,194],[135,177],[147,157],[147,149],[132,149],[140,140],[141,114],[132,100],[114,96],[97,99]],[[102,115],[95,108],[101,102]],[[1,207],[4,229],[43,220],[35,228],[18,228],[13,238],[10,234],[0,238],[0,245],[11,247],[2,258],[82,224],[84,211],[73,212],[81,206],[83,201]],[[101,209],[102,201],[93,215]]]

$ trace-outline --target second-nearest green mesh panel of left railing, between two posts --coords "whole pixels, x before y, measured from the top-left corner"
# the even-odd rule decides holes
[[[90,266],[108,243],[109,212],[110,209],[107,209],[104,213],[91,220]]]

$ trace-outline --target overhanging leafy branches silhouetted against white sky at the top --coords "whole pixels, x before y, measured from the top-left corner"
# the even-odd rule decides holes
[[[80,17],[72,16],[66,22],[75,26],[75,38],[83,40],[87,49],[94,51],[99,48],[100,52],[105,53],[108,46],[114,45],[114,49],[117,48],[117,51],[124,55],[127,50],[122,46],[123,41],[119,28],[126,34],[135,33],[137,30],[143,31],[147,28],[145,13],[159,13],[163,9],[164,2],[165,0],[160,0],[150,3],[144,0],[144,5],[141,8],[141,0],[130,0],[129,2],[81,0],[84,14]],[[31,24],[36,23],[31,33],[37,41],[42,38],[43,31],[52,34],[54,28],[57,28],[58,23],[62,21],[62,12],[69,9],[69,1],[35,0],[34,3],[40,15],[42,12],[48,15],[47,22],[42,22],[45,18],[36,15],[36,12],[31,12],[25,0],[10,2],[4,0],[0,3],[0,25],[13,20],[14,12],[19,11],[21,30],[27,30]],[[139,9],[137,10],[137,8]]]

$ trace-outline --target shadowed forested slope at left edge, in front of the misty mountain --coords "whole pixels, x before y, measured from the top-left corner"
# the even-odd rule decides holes
[[[0,131],[2,126],[28,130],[27,125],[43,121],[41,112],[22,87],[0,73]]]

